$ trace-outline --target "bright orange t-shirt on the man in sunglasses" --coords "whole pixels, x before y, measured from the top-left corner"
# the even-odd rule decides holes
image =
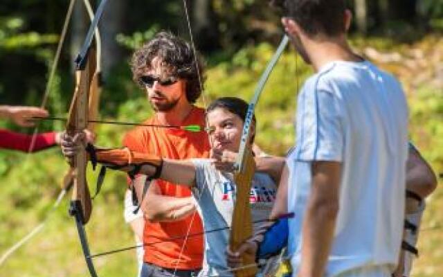
[[[145,124],[160,124],[156,118],[150,118]],[[204,109],[195,107],[183,122],[183,125],[197,124],[205,126]],[[206,132],[188,132],[181,129],[161,127],[136,127],[127,133],[123,144],[138,152],[157,154],[168,159],[192,159],[209,157],[210,145]],[[156,180],[161,194],[173,197],[190,197],[191,191],[186,186],[178,186],[168,181]],[[192,219],[192,217],[194,217]],[[192,222],[192,226],[190,226]],[[170,269],[199,269],[203,262],[203,235],[190,236],[186,239],[181,257],[179,254],[189,233],[201,233],[203,225],[197,212],[176,222],[156,222],[145,220],[143,243],[145,245],[145,262]],[[179,263],[177,264],[177,261]]]

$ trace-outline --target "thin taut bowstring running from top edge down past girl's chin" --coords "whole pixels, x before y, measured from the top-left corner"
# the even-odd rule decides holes
[[[201,94],[202,94],[202,98],[203,98],[203,105],[204,105],[204,108],[206,109],[208,107],[208,100],[206,98],[206,93],[204,91],[203,79],[202,79],[202,75],[201,75],[200,68],[199,68],[199,62],[198,62],[198,57],[197,57],[197,49],[195,47],[194,36],[192,35],[192,27],[191,27],[189,12],[188,12],[188,4],[186,3],[186,0],[183,0],[183,10],[185,12],[186,23],[188,25],[188,32],[189,32],[192,52],[194,53],[194,63],[195,63],[195,67],[197,69],[197,76],[199,78],[199,85],[200,85],[200,90],[201,90]],[[205,120],[205,124],[206,124],[206,128],[208,128],[207,120]],[[199,194],[197,195],[198,199],[201,199],[201,195],[203,195],[205,189],[206,189],[206,186],[204,186],[204,188],[202,188],[199,191]],[[188,226],[188,231],[186,231],[185,239],[183,240],[183,244],[181,245],[181,249],[180,249],[180,252],[179,252],[179,257],[177,258],[177,260],[175,262],[174,272],[172,274],[174,277],[177,274],[177,269],[179,267],[179,263],[181,262],[181,257],[183,256],[183,251],[185,251],[186,242],[188,242],[190,231],[192,229],[192,224],[194,224],[195,216],[197,215],[197,213],[198,213],[197,211],[192,213],[190,224]]]

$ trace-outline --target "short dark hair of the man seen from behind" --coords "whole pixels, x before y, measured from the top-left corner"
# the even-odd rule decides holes
[[[343,14],[345,0],[271,0],[271,5],[282,9],[308,34],[336,36],[345,33]]]

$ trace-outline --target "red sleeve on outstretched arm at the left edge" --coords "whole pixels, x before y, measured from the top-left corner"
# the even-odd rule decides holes
[[[48,132],[37,134],[33,148],[30,145],[33,142],[33,135],[20,134],[9,131],[7,129],[0,129],[0,148],[19,150],[22,152],[37,152],[54,146],[56,132]]]

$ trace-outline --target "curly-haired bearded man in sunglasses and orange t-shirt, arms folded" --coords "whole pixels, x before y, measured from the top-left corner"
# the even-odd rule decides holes
[[[145,124],[200,125],[203,129],[205,111],[194,104],[203,89],[204,71],[190,44],[172,33],[158,33],[135,51],[132,73],[155,111]],[[136,127],[126,134],[123,144],[167,159],[207,158],[210,150],[205,132],[161,127]],[[160,180],[145,186],[143,178],[136,184],[138,199],[143,199],[141,210],[134,213],[128,191],[125,220],[145,245],[141,276],[197,275],[203,259],[202,236],[186,237],[201,233],[203,227],[190,190]]]

